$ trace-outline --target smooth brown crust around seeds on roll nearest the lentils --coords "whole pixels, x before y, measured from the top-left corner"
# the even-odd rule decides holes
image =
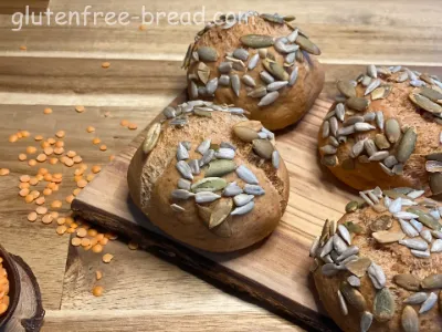
[[[183,127],[169,125],[166,121],[156,147],[147,156],[143,148],[136,152],[128,170],[130,195],[136,205],[149,217],[151,222],[171,237],[187,245],[208,251],[233,251],[249,247],[269,236],[280,221],[288,200],[288,175],[281,159],[276,170],[271,160],[261,160],[253,151],[251,143],[240,141],[232,133],[232,127],[245,117],[227,112],[211,112],[211,117],[188,116]],[[230,238],[220,237],[208,229],[200,218],[194,198],[175,200],[172,190],[181,177],[176,168],[177,146],[180,142],[190,142],[190,158],[199,159],[201,155],[196,148],[204,139],[211,138],[212,144],[229,142],[235,145],[234,162],[245,165],[259,179],[265,190],[263,196],[256,196],[255,207],[249,214],[231,216],[227,221],[232,230]],[[204,172],[194,175],[192,183],[204,177]],[[244,186],[236,174],[222,176],[228,183],[236,181]],[[217,191],[221,194],[221,191]],[[186,210],[176,212],[171,204],[178,204]],[[213,208],[215,204],[203,204]]]

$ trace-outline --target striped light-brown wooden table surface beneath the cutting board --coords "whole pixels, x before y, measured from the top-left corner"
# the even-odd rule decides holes
[[[82,11],[87,4],[93,11],[131,15],[138,15],[143,4],[151,12],[194,12],[204,6],[207,18],[253,7],[245,0],[51,0],[50,8]],[[337,77],[349,76],[348,63],[431,68],[442,59],[442,8],[436,0],[278,0],[256,1],[253,9],[296,15],[322,48],[327,94],[334,93]],[[134,20],[127,27],[106,27],[99,20],[96,27],[25,27],[13,32],[11,17],[0,15],[0,168],[11,169],[0,177],[0,242],[38,277],[46,309],[43,331],[303,331],[246,297],[238,298],[148,252],[129,250],[125,241],[106,247],[115,259],[104,264],[99,255],[70,246],[70,237],[57,236],[54,226],[27,220],[35,207],[18,196],[18,178],[36,167],[19,162],[18,154],[36,143],[30,137],[12,144],[9,135],[27,129],[32,136],[50,137],[64,129],[69,149],[90,167],[105,165],[185,87],[180,62],[201,27],[139,25]],[[20,50],[23,45],[25,51]],[[103,61],[110,68],[102,69]],[[75,105],[85,105],[86,112],[76,113]],[[48,106],[54,112],[43,115]],[[119,126],[123,118],[138,129]],[[106,152],[91,143],[88,125],[96,127]],[[75,188],[73,172],[60,165],[51,169],[64,174],[51,199],[64,199]],[[61,212],[69,212],[66,203]],[[96,269],[104,273],[101,298],[91,294]]]

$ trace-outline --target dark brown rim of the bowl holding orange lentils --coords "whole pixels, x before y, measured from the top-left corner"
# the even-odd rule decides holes
[[[8,272],[9,280],[9,307],[7,312],[0,315],[0,330],[3,328],[11,319],[13,312],[15,311],[17,304],[20,299],[20,276],[17,270],[15,263],[9,252],[0,245],[0,257],[3,259],[2,266]]]

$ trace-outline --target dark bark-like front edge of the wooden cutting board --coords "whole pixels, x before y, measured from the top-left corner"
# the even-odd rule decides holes
[[[118,221],[123,222],[124,220],[118,220],[118,217],[109,219],[106,211],[81,200],[74,200],[72,209],[75,214],[91,222],[101,220],[99,225],[105,225],[109,231],[116,234],[120,232],[120,227],[118,227],[117,224]],[[202,273],[203,276],[227,284],[236,291],[248,293],[252,299],[256,299],[257,301],[270,305],[270,308],[275,309],[275,313],[294,318],[295,321],[306,324],[308,329],[327,332],[339,331],[328,317],[305,308],[283,294],[211,261],[198,252],[194,252],[161,235],[145,230],[135,225],[130,229],[126,229],[126,231],[127,234],[124,236],[129,236],[130,239],[137,241],[140,248],[179,267],[190,269],[190,271],[197,277]]]

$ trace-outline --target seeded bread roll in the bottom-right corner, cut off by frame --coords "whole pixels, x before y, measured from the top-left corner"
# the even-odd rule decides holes
[[[441,331],[441,207],[422,195],[361,193],[314,241],[315,286],[344,331]]]

